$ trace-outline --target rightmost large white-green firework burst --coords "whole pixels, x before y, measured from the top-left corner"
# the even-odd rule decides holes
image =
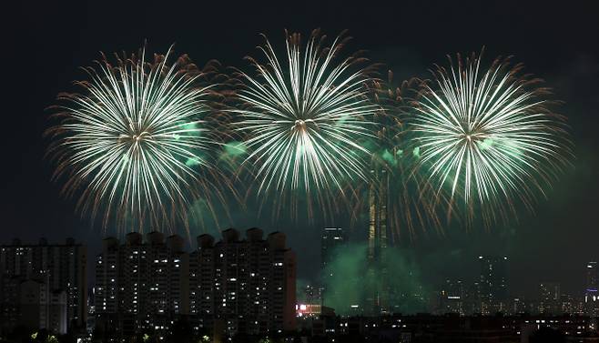
[[[519,76],[521,65],[498,59],[484,72],[480,65],[480,57],[464,64],[458,56],[457,70],[433,72],[436,88],[424,85],[412,121],[421,166],[468,207],[503,211],[520,199],[531,208],[571,155],[563,117],[548,110],[540,80]]]

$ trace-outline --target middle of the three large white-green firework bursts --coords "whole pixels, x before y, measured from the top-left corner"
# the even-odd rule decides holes
[[[334,62],[340,37],[325,48],[319,38],[313,33],[302,53],[300,35],[287,35],[287,64],[267,39],[259,47],[266,64],[249,59],[259,76],[240,72],[246,106],[234,111],[248,136],[248,160],[258,166],[259,194],[303,190],[322,200],[348,180],[366,178],[360,154],[368,152],[356,142],[370,135],[365,118],[376,110],[362,88],[369,76],[352,71],[359,58]]]

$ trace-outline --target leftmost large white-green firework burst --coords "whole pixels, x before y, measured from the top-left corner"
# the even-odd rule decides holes
[[[117,56],[115,66],[104,56],[76,83],[82,94],[58,96],[59,123],[46,132],[54,178],[67,177],[66,196],[80,193],[82,214],[104,210],[104,228],[187,225],[189,201],[218,189],[207,158],[217,142],[202,120],[210,86],[195,86],[204,75],[185,55],[168,66],[169,53]]]

